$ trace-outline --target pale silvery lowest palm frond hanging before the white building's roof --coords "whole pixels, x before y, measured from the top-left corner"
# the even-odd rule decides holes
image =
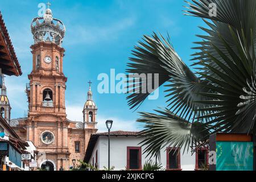
[[[199,122],[190,123],[183,118],[177,117],[170,110],[155,110],[159,114],[140,113],[138,122],[143,123],[145,130],[142,131],[143,139],[141,144],[145,146],[144,153],[147,156],[157,156],[159,149],[166,146],[184,147],[189,150],[193,143],[205,140],[209,133],[205,131],[207,125]]]

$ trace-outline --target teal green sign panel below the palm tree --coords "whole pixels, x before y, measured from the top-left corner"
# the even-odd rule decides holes
[[[253,171],[253,142],[216,142],[216,171]]]

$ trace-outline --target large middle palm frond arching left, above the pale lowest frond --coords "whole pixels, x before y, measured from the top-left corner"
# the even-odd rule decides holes
[[[162,35],[160,35],[160,38],[156,34],[152,38],[144,36],[143,40],[146,43],[140,42],[139,44],[142,47],[135,47],[137,49],[137,51],[134,51],[136,58],[130,58],[135,63],[129,63],[129,67],[132,69],[127,69],[127,72],[137,74],[158,73],[159,86],[166,81],[170,82],[166,85],[169,87],[166,90],[168,92],[166,96],[168,97],[167,107],[170,107],[170,110],[174,113],[180,114],[184,119],[190,120],[205,114],[204,111],[195,110],[206,105],[194,102],[207,99],[207,97],[197,94],[197,92],[209,92],[209,89],[200,85],[202,80],[197,78],[185,65],[170,42],[164,39]],[[130,82],[129,88],[135,90],[135,92],[130,94],[127,99],[131,109],[133,109],[151,93],[143,93],[142,87],[152,87],[152,83],[139,78]]]

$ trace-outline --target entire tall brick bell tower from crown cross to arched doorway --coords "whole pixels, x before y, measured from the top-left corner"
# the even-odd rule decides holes
[[[31,140],[43,158],[39,168],[59,170],[68,168],[68,126],[65,111],[67,78],[63,73],[65,26],[53,18],[51,9],[43,17],[34,18],[32,72],[27,85],[29,113],[26,121],[27,140]]]

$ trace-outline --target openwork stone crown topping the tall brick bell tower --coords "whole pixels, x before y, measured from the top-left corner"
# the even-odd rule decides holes
[[[61,20],[52,17],[52,10],[49,7],[43,17],[34,18],[31,23],[31,32],[34,35],[35,44],[52,42],[61,47],[65,31],[64,24]]]

